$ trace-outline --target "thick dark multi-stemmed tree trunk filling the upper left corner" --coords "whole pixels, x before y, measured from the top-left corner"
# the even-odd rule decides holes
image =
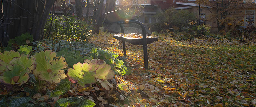
[[[34,41],[40,40],[53,3],[54,0],[1,0],[2,46],[26,32],[34,36]]]

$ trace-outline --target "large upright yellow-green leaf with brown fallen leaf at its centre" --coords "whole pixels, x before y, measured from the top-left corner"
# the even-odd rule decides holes
[[[33,72],[40,80],[52,83],[59,83],[61,79],[67,77],[64,68],[67,63],[63,57],[56,57],[56,53],[51,50],[35,53],[36,70]]]

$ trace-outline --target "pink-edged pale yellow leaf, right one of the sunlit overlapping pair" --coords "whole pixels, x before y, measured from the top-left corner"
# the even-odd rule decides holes
[[[95,60],[86,60],[87,63],[92,65],[92,71],[96,71],[94,75],[98,79],[112,79],[115,76],[115,73],[111,70],[111,66],[106,64],[105,61],[95,59]]]

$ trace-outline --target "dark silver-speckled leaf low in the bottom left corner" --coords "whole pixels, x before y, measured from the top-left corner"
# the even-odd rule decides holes
[[[13,99],[9,104],[9,107],[27,107],[27,103],[31,101],[30,97],[21,97],[17,99]]]

